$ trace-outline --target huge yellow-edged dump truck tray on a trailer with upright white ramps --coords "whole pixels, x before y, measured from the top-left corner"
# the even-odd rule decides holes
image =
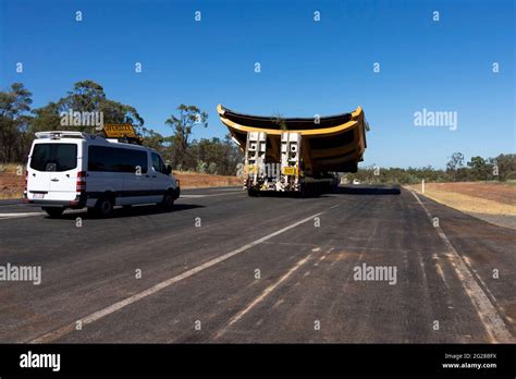
[[[356,172],[366,145],[367,121],[351,113],[311,119],[259,117],[218,106],[219,117],[245,154],[244,187],[321,193],[337,184],[336,172]]]

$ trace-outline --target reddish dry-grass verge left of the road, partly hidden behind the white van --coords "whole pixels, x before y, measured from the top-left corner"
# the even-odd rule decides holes
[[[19,171],[19,166],[22,167],[21,171]],[[21,172],[22,174],[19,175],[19,172]],[[242,185],[242,179],[237,176],[199,174],[189,171],[174,172],[174,175],[181,181],[181,188],[223,187],[230,185]],[[24,187],[25,166],[0,166],[0,199],[22,198]]]

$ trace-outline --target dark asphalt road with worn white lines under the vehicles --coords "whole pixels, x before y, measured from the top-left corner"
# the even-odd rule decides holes
[[[106,220],[1,201],[0,266],[41,283],[0,282],[0,342],[514,343],[514,246],[405,190],[187,190]]]

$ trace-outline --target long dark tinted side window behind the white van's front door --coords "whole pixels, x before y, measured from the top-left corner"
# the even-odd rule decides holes
[[[121,147],[89,146],[88,171],[136,172],[136,167],[147,172],[147,151]]]

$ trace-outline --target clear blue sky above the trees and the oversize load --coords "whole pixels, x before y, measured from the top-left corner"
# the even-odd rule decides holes
[[[454,151],[516,150],[514,24],[509,0],[0,0],[0,86],[24,83],[39,107],[94,80],[163,134],[177,105],[196,105],[209,113],[196,138],[225,134],[218,103],[284,117],[361,106],[361,164],[443,168]],[[415,126],[423,108],[456,111],[457,129]]]

